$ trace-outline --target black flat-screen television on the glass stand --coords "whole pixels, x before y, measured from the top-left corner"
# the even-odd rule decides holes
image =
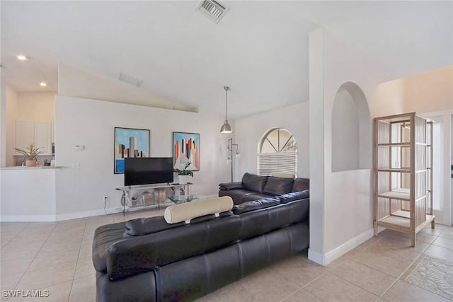
[[[173,182],[173,158],[125,158],[125,186]]]

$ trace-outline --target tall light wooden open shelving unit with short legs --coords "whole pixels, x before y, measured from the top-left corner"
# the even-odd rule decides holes
[[[432,122],[415,113],[374,119],[374,236],[379,226],[416,234],[431,223]]]

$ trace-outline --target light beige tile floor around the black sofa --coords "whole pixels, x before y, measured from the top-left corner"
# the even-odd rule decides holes
[[[96,301],[93,231],[106,223],[162,215],[140,211],[55,223],[0,224],[1,301]],[[424,257],[453,262],[453,228],[383,231],[323,267],[294,255],[199,301],[449,301],[406,281]],[[47,290],[48,298],[7,298],[4,290]],[[44,292],[42,292],[44,293]]]

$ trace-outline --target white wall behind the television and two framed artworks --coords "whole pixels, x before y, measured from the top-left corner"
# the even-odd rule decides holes
[[[191,194],[214,195],[229,181],[222,116],[183,112],[102,100],[57,96],[55,99],[55,163],[64,166],[57,181],[57,214],[62,217],[103,214],[120,207],[123,174],[113,174],[115,127],[151,130],[151,156],[172,156],[172,132],[200,134],[200,171]],[[218,127],[217,127],[218,126]],[[76,151],[76,144],[84,151]],[[75,167],[75,168],[71,168]],[[77,168],[79,167],[79,168]]]

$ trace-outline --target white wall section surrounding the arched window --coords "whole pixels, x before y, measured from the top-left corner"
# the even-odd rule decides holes
[[[258,143],[273,127],[282,127],[292,133],[297,141],[297,175],[309,178],[309,103],[303,102],[234,122],[234,143],[239,144],[241,153],[236,160],[235,181],[240,181],[246,172],[257,173]],[[224,162],[226,164],[226,158]]]

